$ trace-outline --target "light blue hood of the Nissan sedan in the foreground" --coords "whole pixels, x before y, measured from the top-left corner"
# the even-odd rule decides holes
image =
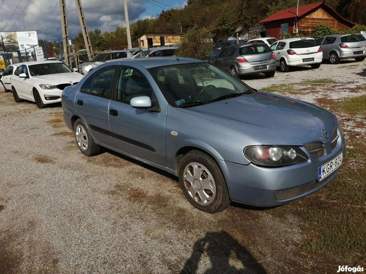
[[[304,145],[329,142],[337,119],[329,111],[285,96],[258,91],[191,108],[187,113],[244,133],[265,145]],[[229,141],[229,140],[228,140]]]

